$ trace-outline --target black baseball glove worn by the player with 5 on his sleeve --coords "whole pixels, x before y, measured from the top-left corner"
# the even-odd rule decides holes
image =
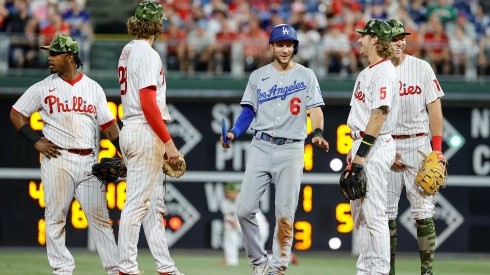
[[[366,196],[366,171],[358,163],[348,165],[340,176],[340,191],[344,198],[357,200]]]

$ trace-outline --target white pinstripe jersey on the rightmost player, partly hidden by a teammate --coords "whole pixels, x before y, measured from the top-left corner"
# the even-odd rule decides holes
[[[400,115],[393,134],[429,133],[426,105],[444,96],[434,71],[426,61],[405,55],[396,72],[400,77]]]

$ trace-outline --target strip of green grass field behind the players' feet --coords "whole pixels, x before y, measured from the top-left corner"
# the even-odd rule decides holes
[[[76,261],[75,275],[105,274],[95,252],[71,249]],[[221,251],[172,250],[172,257],[186,275],[249,275],[247,259],[242,253],[238,267],[219,264]],[[342,275],[355,274],[356,257],[345,253],[297,253],[299,264],[290,265],[288,275]],[[155,274],[155,264],[148,250],[138,255],[144,275]],[[419,273],[418,256],[402,254],[397,258],[397,275]],[[435,261],[435,274],[477,275],[490,274],[490,256],[480,254],[439,254]],[[0,248],[0,274],[51,274],[43,248]]]

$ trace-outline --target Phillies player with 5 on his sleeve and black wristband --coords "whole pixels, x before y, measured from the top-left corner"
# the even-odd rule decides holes
[[[389,58],[393,56],[391,27],[371,19],[358,42],[369,66],[357,76],[347,125],[354,139],[348,163],[364,166],[366,196],[351,201],[354,233],[358,235],[357,274],[388,274],[390,237],[386,216],[387,176],[395,161],[395,143],[390,135],[398,114],[398,77]]]

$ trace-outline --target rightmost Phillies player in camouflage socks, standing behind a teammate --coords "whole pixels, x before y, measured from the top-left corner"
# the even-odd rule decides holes
[[[396,217],[398,201],[405,186],[411,206],[411,216],[417,225],[417,242],[420,250],[421,274],[432,274],[432,262],[436,231],[434,226],[434,196],[424,195],[417,188],[415,176],[424,157],[418,151],[429,154],[432,149],[442,151],[442,110],[440,98],[444,92],[431,66],[424,60],[404,53],[406,47],[403,23],[390,19],[392,45],[395,55],[391,61],[400,79],[400,115],[392,134],[400,160],[389,172],[387,214],[390,228],[391,269],[395,274],[397,243]],[[432,147],[431,138],[432,135]],[[442,152],[440,158],[444,159]]]

